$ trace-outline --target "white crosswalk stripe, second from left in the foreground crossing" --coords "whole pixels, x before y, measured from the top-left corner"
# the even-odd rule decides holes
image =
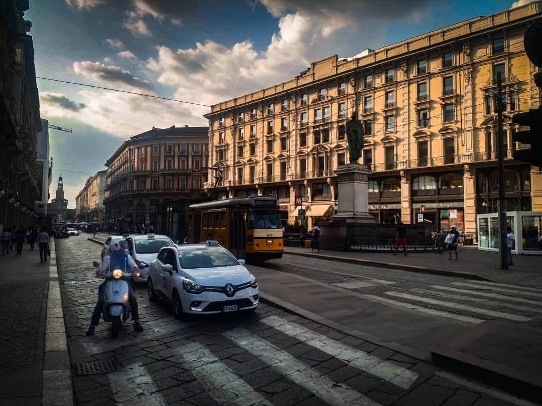
[[[190,343],[179,347],[179,353],[174,358],[182,360],[185,365],[198,365],[191,369],[192,374],[209,395],[220,404],[273,406],[260,392],[254,390],[203,344]]]

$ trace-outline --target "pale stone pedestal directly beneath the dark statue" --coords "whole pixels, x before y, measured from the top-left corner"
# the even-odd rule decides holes
[[[335,169],[335,174],[339,183],[339,207],[333,219],[355,224],[375,223],[375,218],[369,213],[369,168],[349,163]]]

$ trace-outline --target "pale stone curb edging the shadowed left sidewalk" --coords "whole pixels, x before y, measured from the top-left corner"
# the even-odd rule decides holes
[[[50,247],[41,404],[43,406],[71,406],[74,404],[72,368],[62,310],[59,272],[56,267],[56,243]]]

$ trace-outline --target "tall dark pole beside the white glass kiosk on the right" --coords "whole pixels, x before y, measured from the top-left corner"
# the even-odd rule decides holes
[[[502,131],[502,77],[497,74],[497,159],[499,162],[499,269],[508,269],[506,239],[506,199],[505,199],[505,155],[504,134]]]

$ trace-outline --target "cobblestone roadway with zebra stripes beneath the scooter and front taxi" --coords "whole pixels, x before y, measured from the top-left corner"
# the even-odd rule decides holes
[[[137,296],[144,332],[112,340],[100,323],[85,337],[100,279],[100,246],[57,241],[57,263],[79,405],[507,405],[532,403],[261,304],[254,313],[179,322],[164,302]],[[117,361],[118,371],[78,375],[76,366]]]

